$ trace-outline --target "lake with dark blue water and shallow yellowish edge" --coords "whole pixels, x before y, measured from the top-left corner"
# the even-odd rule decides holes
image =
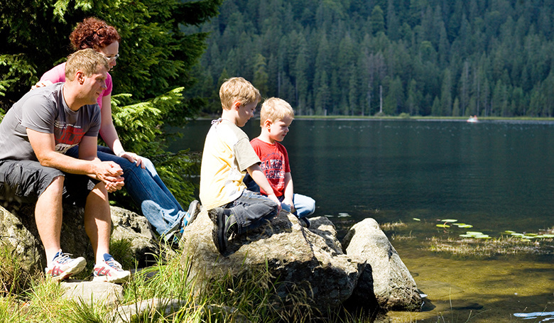
[[[184,136],[169,150],[201,151],[209,128],[172,129]],[[259,119],[243,129],[254,138]],[[532,236],[554,226],[554,122],[296,119],[283,144],[295,192],[340,236],[366,217],[393,224],[386,234],[427,297],[423,312],[390,312],[390,322],[554,320],[554,243]],[[530,238],[501,256],[433,250],[467,231]]]

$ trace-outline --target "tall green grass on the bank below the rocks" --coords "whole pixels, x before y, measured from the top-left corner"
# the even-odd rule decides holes
[[[112,246],[114,257],[129,264],[129,259],[122,256],[131,254],[126,250],[128,241],[114,241]],[[305,288],[290,288],[290,284],[284,300],[276,297],[283,282],[267,267],[200,282],[190,272],[190,261],[195,259],[158,256],[156,265],[134,273],[123,285],[121,305],[157,298],[179,300],[180,307],[173,313],[150,310],[133,322],[371,322],[371,316],[350,314],[344,309],[317,312],[308,305]],[[66,300],[60,284],[43,273],[26,277],[18,275],[16,267],[4,266],[17,263],[12,253],[0,253],[0,263],[0,279],[11,286],[0,297],[0,322],[113,322],[112,309]]]

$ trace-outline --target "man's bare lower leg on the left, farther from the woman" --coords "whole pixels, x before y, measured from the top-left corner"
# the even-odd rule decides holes
[[[35,207],[35,221],[40,241],[43,242],[47,266],[52,265],[53,258],[60,250],[60,231],[62,230],[62,193],[63,180],[58,176],[38,197]]]

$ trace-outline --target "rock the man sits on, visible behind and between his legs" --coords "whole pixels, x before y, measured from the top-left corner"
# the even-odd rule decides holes
[[[151,261],[159,253],[158,243],[145,217],[119,207],[112,209],[112,239],[129,239],[131,253],[139,265]],[[70,205],[63,206],[61,246],[64,252],[83,256],[94,261],[92,246],[84,226],[84,209]],[[16,214],[13,214],[16,213]],[[2,246],[15,252],[21,259],[21,268],[36,273],[46,266],[43,244],[36,228],[34,205],[23,204],[9,212],[0,207],[0,241]],[[151,257],[151,258],[148,258]]]

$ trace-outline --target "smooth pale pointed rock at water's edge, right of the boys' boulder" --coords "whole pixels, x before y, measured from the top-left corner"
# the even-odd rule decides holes
[[[348,256],[367,265],[352,295],[352,302],[384,310],[419,310],[422,300],[412,275],[374,219],[352,226],[344,237]]]

